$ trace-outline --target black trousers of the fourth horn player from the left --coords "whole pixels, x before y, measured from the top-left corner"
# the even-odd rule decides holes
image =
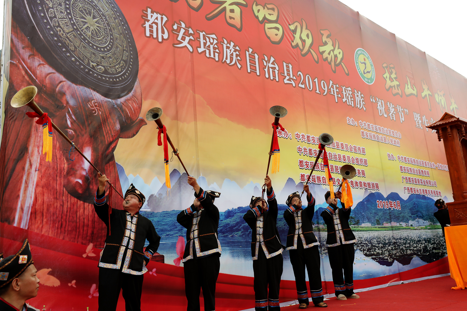
[[[297,297],[299,304],[308,305],[308,289],[305,281],[305,266],[308,271],[308,280],[310,283],[311,300],[313,304],[319,304],[324,301],[323,286],[321,284],[320,258],[318,245],[304,249],[302,239],[297,238],[297,249],[290,249],[290,263],[292,264],[293,274],[295,276],[295,286],[297,287]]]

